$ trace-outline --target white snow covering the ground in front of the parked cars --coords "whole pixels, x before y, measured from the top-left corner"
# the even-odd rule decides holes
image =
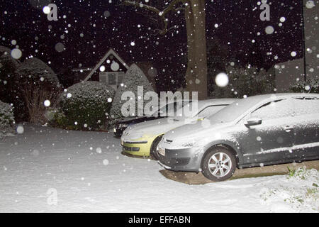
[[[0,140],[0,212],[319,211],[316,170],[188,185],[121,155],[113,133],[24,129]]]

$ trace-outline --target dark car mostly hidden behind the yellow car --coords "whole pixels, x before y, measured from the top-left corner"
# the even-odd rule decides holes
[[[141,123],[145,121],[152,121],[156,118],[164,118],[168,116],[171,111],[176,111],[179,107],[182,107],[185,104],[188,104],[190,100],[176,100],[169,102],[168,104],[162,106],[160,109],[155,111],[152,115],[145,116],[136,116],[136,117],[127,117],[120,119],[113,128],[114,135],[118,138],[121,138],[123,131],[132,126],[135,123]]]

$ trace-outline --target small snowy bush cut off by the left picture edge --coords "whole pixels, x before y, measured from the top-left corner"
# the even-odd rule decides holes
[[[14,132],[13,107],[0,101],[0,138]]]

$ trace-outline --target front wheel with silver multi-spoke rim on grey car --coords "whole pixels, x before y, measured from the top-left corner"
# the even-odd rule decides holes
[[[233,176],[235,169],[235,155],[227,148],[213,148],[203,157],[203,175],[214,182],[229,179]]]

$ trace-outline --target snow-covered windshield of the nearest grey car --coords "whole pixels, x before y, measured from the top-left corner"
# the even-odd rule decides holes
[[[211,123],[221,123],[221,122],[230,122],[234,121],[236,118],[240,117],[242,114],[250,109],[252,106],[256,105],[261,101],[260,99],[240,99],[235,101],[235,103],[226,106],[225,108],[218,111],[216,114],[213,114],[208,119]]]

